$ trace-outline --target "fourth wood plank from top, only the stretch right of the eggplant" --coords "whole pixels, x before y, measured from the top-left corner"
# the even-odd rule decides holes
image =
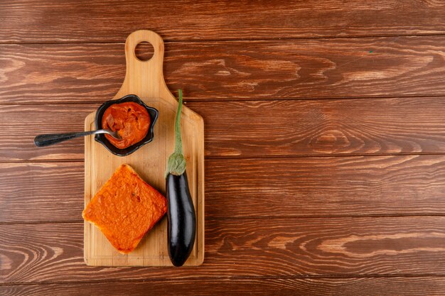
[[[210,217],[444,213],[444,155],[212,160],[206,168]]]

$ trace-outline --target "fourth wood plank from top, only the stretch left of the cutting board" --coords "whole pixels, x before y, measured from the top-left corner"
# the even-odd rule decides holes
[[[81,220],[83,177],[83,163],[0,163],[0,221]]]

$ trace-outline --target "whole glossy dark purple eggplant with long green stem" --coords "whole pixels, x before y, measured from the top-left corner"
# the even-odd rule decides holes
[[[193,249],[196,234],[196,216],[186,174],[186,158],[181,139],[182,91],[179,89],[178,111],[175,122],[175,151],[168,158],[167,239],[168,256],[175,266],[182,266]]]

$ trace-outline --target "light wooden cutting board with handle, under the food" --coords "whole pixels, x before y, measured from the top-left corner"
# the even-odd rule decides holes
[[[146,41],[154,48],[150,60],[136,57],[136,45]],[[154,140],[131,155],[119,157],[85,137],[85,204],[90,202],[122,163],[131,165],[151,186],[166,194],[165,171],[174,146],[174,120],[178,102],[163,80],[163,40],[151,31],[136,31],[125,42],[127,72],[121,89],[114,96],[120,99],[136,94],[147,105],[159,110],[154,126]],[[95,129],[95,112],[85,119],[85,131]],[[197,219],[195,246],[184,265],[200,265],[204,260],[204,123],[203,118],[183,106],[181,114],[183,150],[187,176]],[[167,251],[166,216],[149,231],[139,246],[127,255],[114,250],[102,232],[85,221],[84,258],[87,265],[105,266],[171,266]]]

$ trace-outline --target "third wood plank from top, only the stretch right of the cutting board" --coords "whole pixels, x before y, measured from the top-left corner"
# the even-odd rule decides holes
[[[443,153],[445,97],[195,102],[208,157]]]

